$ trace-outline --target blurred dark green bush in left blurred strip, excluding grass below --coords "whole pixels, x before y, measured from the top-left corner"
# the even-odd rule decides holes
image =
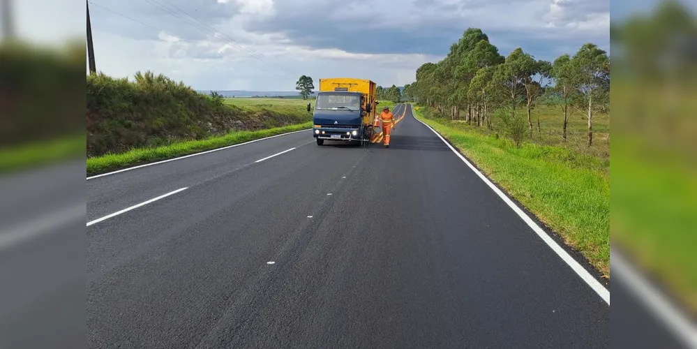
[[[0,147],[81,133],[84,69],[84,43],[0,43]]]

